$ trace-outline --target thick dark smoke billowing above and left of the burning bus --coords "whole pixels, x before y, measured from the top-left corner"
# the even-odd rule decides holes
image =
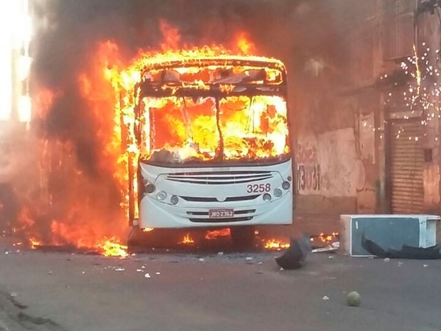
[[[24,205],[26,201],[33,202],[27,215],[32,219],[28,224],[33,232],[50,242],[56,239],[54,228],[58,233],[74,231],[72,224],[80,234],[84,227],[96,236],[119,234],[127,227],[119,208],[121,188],[110,164],[115,159],[104,152],[112,135],[112,108],[108,100],[101,100],[102,109],[97,116],[97,100],[92,105],[78,83],[80,73],[92,73],[100,43],[115,42],[119,56],[128,60],[139,49],[161,49],[164,36],[160,22],[164,20],[179,29],[181,47],[228,44],[238,31],[245,31],[260,55],[280,58],[287,64],[292,79],[289,96],[296,100],[292,105],[299,105],[302,97],[295,91],[307,93],[307,88],[302,88],[305,81],[311,88],[319,73],[338,65],[332,21],[325,3],[326,0],[36,1],[38,29],[31,50],[32,89],[34,95],[47,89],[55,96],[44,115],[32,123],[32,132],[44,142],[38,149],[43,155],[40,163],[50,169],[39,174],[47,177],[43,181],[46,191],[22,199]],[[95,95],[94,88],[89,86],[91,95]],[[39,199],[50,201],[51,208],[36,208]]]

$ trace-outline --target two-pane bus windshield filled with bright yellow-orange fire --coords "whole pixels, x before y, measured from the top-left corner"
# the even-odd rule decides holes
[[[275,162],[289,156],[286,100],[279,95],[144,96],[141,159],[159,165]]]

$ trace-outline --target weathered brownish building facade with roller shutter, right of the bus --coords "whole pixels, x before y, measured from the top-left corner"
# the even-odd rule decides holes
[[[296,95],[297,214],[440,213],[439,2],[326,2],[339,61]]]

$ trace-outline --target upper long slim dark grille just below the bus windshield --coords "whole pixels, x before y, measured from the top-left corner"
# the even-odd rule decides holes
[[[176,172],[168,174],[167,180],[171,182],[188,184],[242,184],[258,182],[272,178],[271,172]]]

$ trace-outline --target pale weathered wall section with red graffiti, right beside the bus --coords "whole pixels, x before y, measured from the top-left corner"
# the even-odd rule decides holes
[[[354,211],[356,167],[354,128],[300,136],[295,154],[297,211]]]

